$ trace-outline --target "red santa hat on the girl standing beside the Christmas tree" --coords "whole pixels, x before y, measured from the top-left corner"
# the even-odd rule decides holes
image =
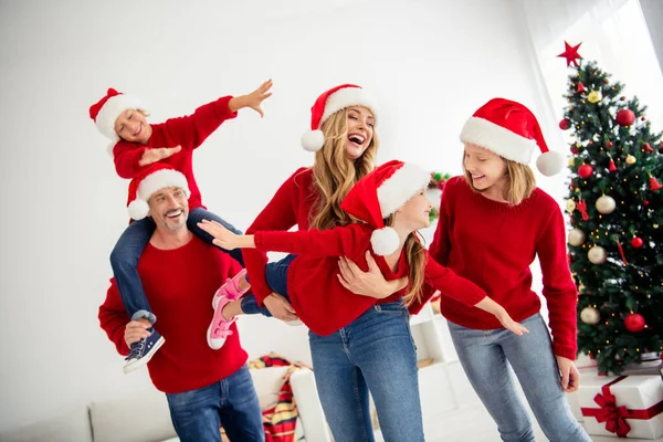
[[[564,168],[564,157],[548,149],[532,110],[508,99],[493,98],[480,107],[463,126],[461,141],[484,147],[522,165],[529,165],[538,148],[541,155],[536,166],[546,177]]]

